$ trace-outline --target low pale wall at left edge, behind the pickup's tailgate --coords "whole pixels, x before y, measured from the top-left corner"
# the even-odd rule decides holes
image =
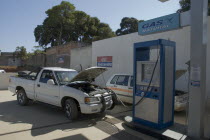
[[[9,86],[9,77],[17,73],[0,73],[0,90],[7,90]]]

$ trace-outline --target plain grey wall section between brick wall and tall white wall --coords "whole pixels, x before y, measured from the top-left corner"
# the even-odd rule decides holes
[[[92,47],[80,47],[71,50],[70,68],[81,71],[92,65]]]

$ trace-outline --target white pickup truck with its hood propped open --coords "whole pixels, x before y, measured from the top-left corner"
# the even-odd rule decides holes
[[[92,84],[106,68],[92,67],[79,74],[72,69],[45,67],[19,77],[10,77],[8,89],[17,94],[20,105],[29,100],[62,107],[69,119],[80,113],[92,114],[113,109],[116,95],[109,89]]]

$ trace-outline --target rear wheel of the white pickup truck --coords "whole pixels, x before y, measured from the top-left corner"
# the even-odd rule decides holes
[[[23,89],[17,91],[17,101],[19,105],[25,106],[28,104],[29,99]]]

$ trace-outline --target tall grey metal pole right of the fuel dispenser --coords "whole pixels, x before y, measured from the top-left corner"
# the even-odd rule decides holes
[[[208,0],[191,0],[191,63],[188,135],[204,137]]]

